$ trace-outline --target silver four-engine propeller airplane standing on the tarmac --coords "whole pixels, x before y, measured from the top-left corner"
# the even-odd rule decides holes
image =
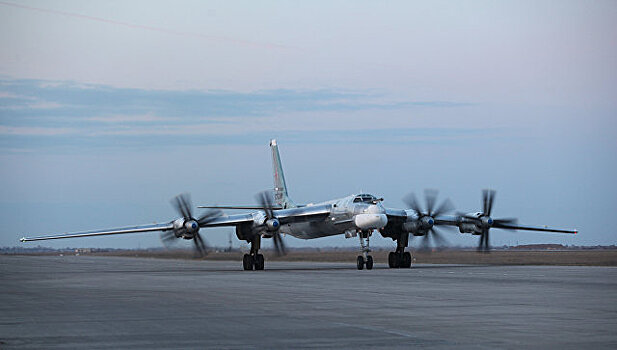
[[[316,204],[297,205],[289,197],[283,167],[275,139],[270,140],[274,189],[269,193],[261,192],[256,198],[257,206],[199,206],[206,209],[195,217],[190,197],[182,194],[172,200],[180,218],[162,224],[140,225],[110,230],[84,231],[60,235],[23,237],[22,242],[118,235],[138,232],[161,232],[164,242],[177,239],[192,240],[200,254],[206,253],[206,245],[201,237],[201,228],[231,226],[235,227],[236,236],[250,244],[250,252],[244,254],[244,270],[264,270],[264,256],[259,253],[261,240],[272,239],[277,255],[286,253],[282,235],[300,239],[315,239],[333,235],[346,238],[358,237],[361,255],[356,259],[356,267],[362,270],[373,268],[370,255],[370,237],[379,232],[383,237],[396,241],[396,249],[388,254],[390,268],[409,268],[412,256],[405,248],[410,237],[423,237],[423,245],[428,246],[429,239],[444,242],[436,226],[458,228],[460,233],[480,236],[478,251],[488,252],[489,231],[491,228],[504,230],[532,230],[576,234],[576,230],[552,229],[548,227],[521,226],[516,219],[493,219],[491,217],[495,191],[483,191],[483,209],[481,212],[456,213],[446,215],[454,208],[449,200],[436,205],[437,191],[425,191],[426,209],[418,203],[415,195],[404,198],[406,209],[387,208],[382,204],[383,198],[372,194],[353,194]],[[273,195],[273,196],[272,196]],[[226,210],[250,210],[247,213],[224,215]]]

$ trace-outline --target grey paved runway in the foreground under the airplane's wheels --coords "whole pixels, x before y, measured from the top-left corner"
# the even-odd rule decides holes
[[[617,348],[617,268],[0,256],[0,349]]]

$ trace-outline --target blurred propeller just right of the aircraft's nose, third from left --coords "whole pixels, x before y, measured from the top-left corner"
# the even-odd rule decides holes
[[[407,204],[409,209],[413,210],[418,219],[410,228],[412,232],[424,233],[422,238],[422,248],[427,250],[429,246],[429,240],[433,240],[434,243],[440,246],[448,245],[448,241],[442,237],[437,228],[435,227],[435,217],[443,215],[454,210],[454,205],[449,199],[445,199],[437,208],[437,194],[439,191],[434,189],[424,190],[424,198],[426,201],[426,211],[422,209],[415,194],[410,193],[403,201]]]

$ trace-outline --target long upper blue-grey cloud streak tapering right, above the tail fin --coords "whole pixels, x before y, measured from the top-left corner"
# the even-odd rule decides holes
[[[298,111],[359,111],[400,108],[447,108],[469,105],[457,101],[409,101],[379,93],[335,90],[266,90],[255,92],[144,90],[39,80],[3,80],[2,107],[27,109],[37,101],[36,116],[101,117],[153,115],[190,118],[266,116]],[[10,99],[10,101],[9,101]],[[64,108],[59,108],[64,107]],[[6,108],[4,108],[6,109]],[[5,117],[31,115],[29,111]]]

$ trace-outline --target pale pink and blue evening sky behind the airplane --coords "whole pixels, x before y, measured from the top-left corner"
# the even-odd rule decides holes
[[[252,205],[271,138],[297,203],[492,188],[494,217],[579,230],[494,245],[617,243],[614,1],[0,1],[0,48],[0,246],[166,222],[183,192]]]

